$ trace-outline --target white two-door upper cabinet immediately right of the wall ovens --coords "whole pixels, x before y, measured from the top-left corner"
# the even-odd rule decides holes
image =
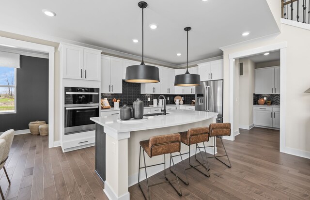
[[[101,92],[123,92],[123,60],[114,57],[101,57]]]

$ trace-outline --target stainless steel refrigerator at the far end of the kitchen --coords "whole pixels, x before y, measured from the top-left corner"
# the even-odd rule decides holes
[[[196,110],[217,112],[217,123],[223,123],[223,80],[202,81],[195,99]]]

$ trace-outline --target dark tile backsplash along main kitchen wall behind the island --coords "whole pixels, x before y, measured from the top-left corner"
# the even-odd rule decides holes
[[[158,99],[160,94],[141,94],[140,83],[127,83],[123,80],[123,93],[122,94],[107,94],[101,93],[101,99],[107,98],[111,107],[113,107],[112,99],[121,99],[120,107],[124,104],[131,106],[137,98],[140,98],[143,101],[144,106],[153,105],[153,99]],[[166,99],[169,97],[169,101],[167,100],[167,104],[174,104],[174,97],[176,94],[165,94]],[[190,104],[192,100],[195,100],[195,94],[182,94],[180,95],[184,98],[184,104]],[[148,101],[148,98],[151,101]]]

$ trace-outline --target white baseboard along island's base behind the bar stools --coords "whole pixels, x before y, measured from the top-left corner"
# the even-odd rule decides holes
[[[208,154],[213,154],[213,147],[212,148],[209,147],[209,148],[206,148],[206,149],[207,149],[207,153]],[[195,149],[191,149],[190,156],[195,154],[194,150]],[[201,151],[204,152],[204,149],[201,149]],[[215,154],[217,154],[217,147],[215,148]],[[177,155],[177,154],[172,154],[172,155]],[[167,158],[167,157],[169,157],[169,158]],[[201,158],[200,155],[199,155],[199,157]],[[166,158],[167,158],[166,159],[166,169],[168,169],[169,168],[169,163],[170,163],[170,156],[166,156]],[[182,159],[183,160],[185,160],[187,158],[188,158],[188,154],[182,155]],[[174,164],[177,164],[177,163],[181,162],[180,156],[174,157],[173,158],[173,162],[174,162]],[[157,166],[148,168],[147,169],[147,176],[151,177],[151,176],[155,175],[156,173],[162,171],[163,169],[164,169],[164,165],[157,165]],[[140,181],[143,181],[143,180],[145,180],[145,172],[144,172],[144,169],[141,169],[141,171],[140,171]],[[128,176],[128,186],[129,187],[132,186],[132,185],[135,185],[137,183],[138,183],[138,172]]]

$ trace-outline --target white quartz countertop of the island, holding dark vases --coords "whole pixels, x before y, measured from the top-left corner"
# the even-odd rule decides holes
[[[172,110],[167,115],[149,116],[148,120],[142,123],[119,123],[118,115],[93,117],[91,120],[104,127],[109,128],[113,132],[123,133],[131,131],[149,130],[155,128],[163,128],[176,126],[186,123],[195,123],[203,120],[216,118],[216,112],[204,112],[195,110]]]

